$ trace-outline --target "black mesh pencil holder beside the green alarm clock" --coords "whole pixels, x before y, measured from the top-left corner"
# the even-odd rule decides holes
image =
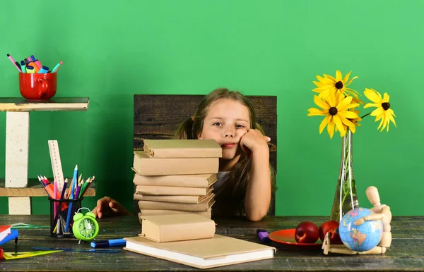
[[[73,215],[81,208],[80,199],[52,199],[50,201],[50,235],[57,238],[73,238]]]

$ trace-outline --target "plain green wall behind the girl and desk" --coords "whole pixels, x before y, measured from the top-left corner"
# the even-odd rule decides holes
[[[228,87],[276,95],[276,214],[329,215],[341,137],[319,135],[322,118],[307,117],[307,109],[315,106],[315,75],[352,70],[360,77],[353,89],[391,95],[398,124],[379,132],[368,117],[354,135],[360,206],[370,206],[365,189],[375,185],[394,215],[424,215],[423,10],[419,0],[1,1],[1,96],[20,97],[7,53],[34,54],[45,66],[64,61],[57,97],[90,97],[90,106],[30,113],[29,176],[52,176],[47,140],[58,140],[65,176],[78,164],[83,177],[96,176],[98,197],[132,210],[134,94]],[[0,133],[3,154],[5,141]],[[98,197],[83,205],[92,208]],[[33,214],[48,214],[47,198],[32,203]],[[0,213],[7,211],[1,197]]]

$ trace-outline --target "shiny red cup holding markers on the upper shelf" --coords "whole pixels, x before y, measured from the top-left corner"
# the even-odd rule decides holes
[[[57,73],[19,73],[20,94],[29,100],[48,100],[57,89]]]

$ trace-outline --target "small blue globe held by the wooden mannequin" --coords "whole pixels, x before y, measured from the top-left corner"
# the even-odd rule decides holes
[[[383,235],[383,222],[381,219],[365,221],[355,225],[357,219],[375,214],[366,208],[356,208],[348,211],[338,225],[338,235],[343,244],[355,252],[366,252],[378,245]]]

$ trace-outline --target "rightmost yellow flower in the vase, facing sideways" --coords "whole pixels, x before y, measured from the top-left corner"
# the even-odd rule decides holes
[[[373,102],[373,103],[366,104],[364,106],[364,109],[369,108],[371,106],[375,106],[377,109],[372,111],[371,116],[376,116],[375,117],[376,122],[380,119],[382,120],[377,130],[379,130],[379,128],[382,126],[382,130],[380,131],[383,131],[384,128],[386,128],[387,126],[387,131],[389,131],[390,121],[393,122],[394,126],[396,127],[396,122],[394,121],[394,118],[393,118],[393,116],[394,117],[396,116],[394,115],[394,111],[390,109],[389,94],[385,92],[382,98],[382,95],[379,94],[379,92],[377,92],[375,89],[367,89],[367,88],[365,88],[364,94],[365,94],[365,97],[367,97],[367,99],[370,99]]]

